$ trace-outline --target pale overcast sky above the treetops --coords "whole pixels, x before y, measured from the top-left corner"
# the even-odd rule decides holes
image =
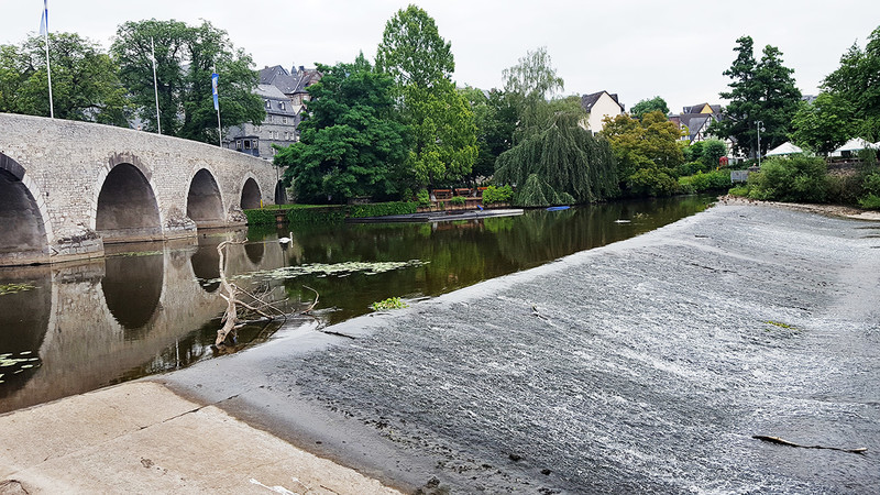
[[[189,24],[206,19],[229,32],[256,68],[280,64],[373,58],[385,22],[410,3],[395,0],[50,0],[53,32],[76,32],[109,46],[125,21],[155,18]],[[501,87],[502,70],[529,50],[546,46],[565,95],[617,92],[627,109],[660,96],[672,111],[722,102],[722,75],[736,38],[755,40],[756,58],[779,47],[804,94],[858,41],[880,25],[880,1],[740,0],[668,2],[422,0],[415,2],[452,43],[454,79],[484,89]],[[19,43],[40,28],[41,0],[0,0],[0,43]]]

